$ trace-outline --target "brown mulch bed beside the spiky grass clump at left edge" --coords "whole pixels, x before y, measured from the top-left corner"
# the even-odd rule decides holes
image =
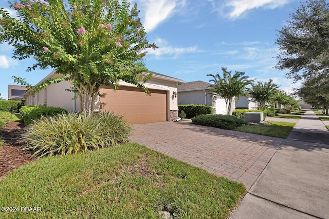
[[[23,128],[23,123],[11,122],[0,130],[5,142],[0,148],[0,180],[11,170],[35,160],[31,152],[21,150],[23,142],[18,138]]]

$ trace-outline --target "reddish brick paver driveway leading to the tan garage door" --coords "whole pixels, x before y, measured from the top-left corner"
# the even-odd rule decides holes
[[[197,126],[189,121],[133,125],[131,141],[242,182],[247,190],[283,139]]]

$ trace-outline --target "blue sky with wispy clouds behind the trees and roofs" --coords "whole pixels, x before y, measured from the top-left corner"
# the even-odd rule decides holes
[[[207,74],[221,73],[226,67],[260,81],[272,78],[286,91],[300,84],[273,68],[279,52],[277,30],[299,7],[299,0],[130,1],[138,5],[149,41],[159,47],[145,56],[149,70],[186,82],[209,82]],[[0,7],[8,9],[7,0],[0,0]],[[14,84],[11,76],[34,85],[51,72],[26,72],[33,57],[22,61],[11,57],[11,47],[0,44],[0,93],[5,99],[8,84]]]

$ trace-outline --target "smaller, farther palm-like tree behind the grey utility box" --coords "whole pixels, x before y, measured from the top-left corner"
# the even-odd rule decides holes
[[[272,82],[272,79],[269,79],[269,82],[265,82],[264,84],[258,81],[257,84],[253,84],[251,89],[249,89],[249,94],[260,104],[262,110],[265,109],[266,104],[273,100],[276,91],[279,89],[279,86]]]

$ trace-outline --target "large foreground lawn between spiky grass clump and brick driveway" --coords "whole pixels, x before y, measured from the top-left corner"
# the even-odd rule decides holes
[[[138,144],[41,158],[0,181],[2,218],[226,218],[246,189]]]

